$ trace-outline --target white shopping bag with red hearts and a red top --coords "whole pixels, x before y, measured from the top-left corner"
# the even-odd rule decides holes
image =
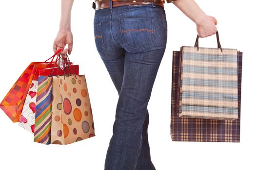
[[[71,63],[70,63],[71,64]],[[73,66],[75,74],[79,75],[79,65]],[[26,129],[30,133],[34,133],[35,130],[35,111],[36,111],[36,98],[37,98],[37,89],[38,89],[38,78],[41,76],[49,76],[53,69],[53,75],[55,74],[64,74],[64,72],[68,71],[59,69],[59,67],[55,68],[40,68],[36,70],[36,73],[33,77],[30,89],[28,91],[28,95],[26,96],[26,100],[23,105],[22,113],[19,120],[19,126]]]

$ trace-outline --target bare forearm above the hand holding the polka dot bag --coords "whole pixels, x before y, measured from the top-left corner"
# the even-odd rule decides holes
[[[74,0],[61,0],[60,30],[71,30],[71,10]]]

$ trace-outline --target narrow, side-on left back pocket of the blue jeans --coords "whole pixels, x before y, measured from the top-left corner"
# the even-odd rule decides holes
[[[94,25],[94,39],[98,52],[103,52],[106,48],[102,39],[101,22]]]

